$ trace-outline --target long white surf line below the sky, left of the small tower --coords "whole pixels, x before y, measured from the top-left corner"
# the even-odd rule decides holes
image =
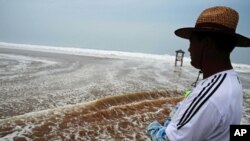
[[[170,55],[155,55],[146,53],[131,53],[121,51],[107,51],[107,50],[95,50],[95,49],[83,49],[83,48],[67,48],[67,47],[55,47],[55,46],[43,46],[43,45],[30,45],[30,44],[14,44],[0,42],[0,47],[11,49],[23,49],[31,51],[63,53],[72,55],[84,55],[103,58],[139,58],[139,59],[157,59],[173,62],[174,56]]]

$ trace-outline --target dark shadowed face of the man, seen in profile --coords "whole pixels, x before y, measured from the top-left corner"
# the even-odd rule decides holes
[[[190,52],[191,65],[197,69],[201,69],[203,45],[202,40],[199,40],[196,35],[190,38],[190,45],[188,51]]]

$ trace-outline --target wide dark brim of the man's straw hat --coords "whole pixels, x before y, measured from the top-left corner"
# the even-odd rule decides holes
[[[231,33],[231,32],[226,32],[224,30],[218,30],[218,29],[209,29],[209,28],[193,28],[193,27],[186,27],[186,28],[180,28],[175,31],[175,35],[179,36],[184,39],[190,39],[191,34],[194,32],[220,32],[220,33],[225,33],[232,35],[236,38],[236,46],[237,47],[250,47],[250,39],[237,34],[237,33]]]

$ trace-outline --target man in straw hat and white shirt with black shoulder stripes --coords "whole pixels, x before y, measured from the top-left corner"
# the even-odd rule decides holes
[[[250,39],[235,33],[238,13],[223,6],[204,10],[194,28],[175,31],[189,39],[191,65],[203,72],[203,80],[163,125],[151,123],[152,140],[229,141],[231,124],[240,124],[242,85],[233,70],[230,53],[235,46],[249,47]]]

